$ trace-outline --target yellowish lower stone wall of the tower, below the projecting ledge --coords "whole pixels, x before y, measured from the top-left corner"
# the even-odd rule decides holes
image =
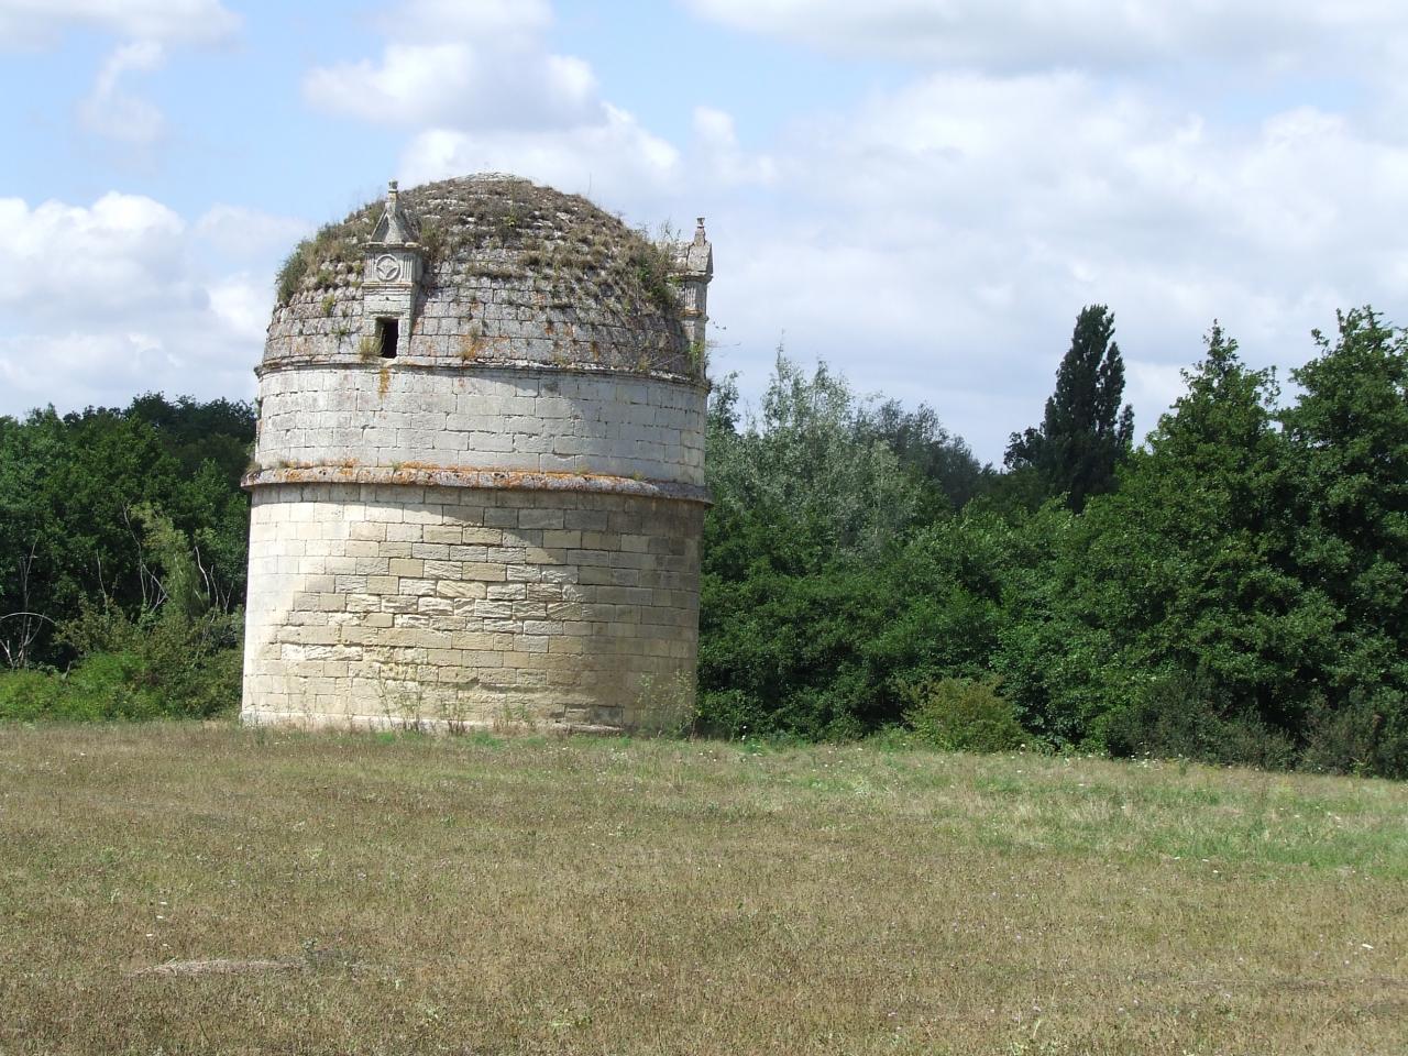
[[[693,696],[703,511],[620,494],[259,487],[244,718],[667,725]]]

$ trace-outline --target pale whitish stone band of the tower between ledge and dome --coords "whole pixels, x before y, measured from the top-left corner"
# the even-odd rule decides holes
[[[704,484],[697,383],[546,367],[310,366],[265,375],[260,469],[460,466]]]

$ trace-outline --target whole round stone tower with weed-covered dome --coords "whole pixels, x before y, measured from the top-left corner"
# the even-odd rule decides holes
[[[300,245],[259,376],[246,722],[636,729],[693,703],[712,253],[501,175]]]

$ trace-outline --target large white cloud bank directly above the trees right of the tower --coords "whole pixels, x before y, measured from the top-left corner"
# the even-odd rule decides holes
[[[1408,297],[1408,145],[1345,114],[1232,128],[1076,73],[935,73],[773,156],[772,194],[711,207],[711,311],[739,346],[715,362],[758,383],[786,331],[991,459],[1039,420],[1084,304],[1115,313],[1143,431],[1215,317],[1288,367],[1336,307]]]

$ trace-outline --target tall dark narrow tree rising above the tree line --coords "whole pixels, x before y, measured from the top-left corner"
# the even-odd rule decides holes
[[[1014,432],[1007,445],[1010,469],[1035,473],[1046,496],[1064,494],[1077,511],[1114,487],[1115,466],[1133,442],[1133,411],[1119,406],[1125,363],[1114,332],[1104,304],[1081,308],[1041,428]]]

